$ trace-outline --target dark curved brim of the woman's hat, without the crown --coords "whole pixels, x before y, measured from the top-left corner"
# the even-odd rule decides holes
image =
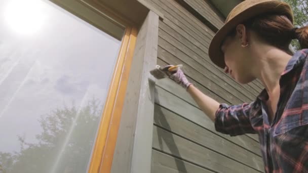
[[[291,12],[291,14],[288,12]],[[226,22],[214,35],[209,47],[209,57],[212,62],[214,62],[214,64],[216,64],[218,67],[224,68],[224,55],[221,51],[222,41],[229,34],[229,32],[232,31],[238,24],[241,24],[241,22],[245,22],[249,18],[264,13],[286,15],[293,23],[292,10],[290,9],[290,6],[284,2],[268,1],[247,8],[239,15]]]

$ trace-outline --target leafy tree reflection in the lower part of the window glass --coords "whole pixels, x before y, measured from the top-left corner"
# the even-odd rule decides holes
[[[80,110],[65,106],[41,116],[42,132],[35,136],[38,142],[27,143],[24,137],[18,136],[20,151],[0,152],[0,173],[50,172],[71,125],[74,126],[72,134],[55,172],[86,172],[101,111],[102,106],[92,99]]]

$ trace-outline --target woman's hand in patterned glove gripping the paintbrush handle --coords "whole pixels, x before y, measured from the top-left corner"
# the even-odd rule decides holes
[[[162,70],[169,76],[170,79],[181,85],[184,89],[188,89],[191,83],[187,80],[183,71],[178,68],[176,71],[169,71],[168,69],[173,67],[173,65],[167,65]]]

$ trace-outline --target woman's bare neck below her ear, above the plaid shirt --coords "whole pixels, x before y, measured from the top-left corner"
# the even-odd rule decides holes
[[[292,56],[273,47],[260,49],[256,55],[258,62],[255,66],[255,76],[261,80],[267,93],[271,95],[279,89],[281,74]]]

